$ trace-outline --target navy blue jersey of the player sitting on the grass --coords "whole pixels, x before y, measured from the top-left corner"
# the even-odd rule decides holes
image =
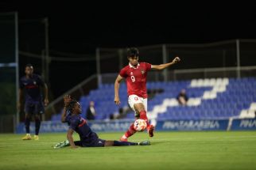
[[[98,141],[98,135],[91,130],[81,115],[68,115],[66,122],[69,124],[70,129],[75,130],[80,135],[80,142],[82,142],[83,146],[95,145],[95,142]]]

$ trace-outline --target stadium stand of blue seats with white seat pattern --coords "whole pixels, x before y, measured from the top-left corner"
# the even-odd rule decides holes
[[[211,78],[191,81],[148,82],[148,90],[162,89],[148,100],[149,119],[227,119],[254,118],[256,112],[256,78]],[[180,106],[176,95],[186,89],[188,104]],[[114,104],[114,84],[103,84],[80,98],[82,115],[91,100],[95,101],[95,119],[109,119],[120,107],[127,106],[126,84],[119,89],[121,105]],[[129,112],[126,119],[134,119]],[[60,114],[52,120],[60,120]]]

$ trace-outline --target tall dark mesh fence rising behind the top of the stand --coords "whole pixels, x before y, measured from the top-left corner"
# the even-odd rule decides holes
[[[236,67],[239,77],[240,66],[256,66],[256,40],[227,40],[215,43],[159,44],[138,47],[139,60],[151,64],[170,62],[176,55],[181,62],[164,70],[163,79],[169,79],[172,70]],[[126,66],[126,49],[99,48],[96,53],[97,74],[118,73]]]

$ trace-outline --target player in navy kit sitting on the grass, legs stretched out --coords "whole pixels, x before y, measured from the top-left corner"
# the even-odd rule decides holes
[[[68,123],[69,129],[67,133],[68,140],[57,143],[54,148],[63,148],[71,146],[71,148],[81,147],[103,147],[103,146],[124,146],[124,145],[150,145],[149,141],[145,142],[119,142],[107,141],[100,139],[98,135],[87,125],[87,121],[80,115],[82,109],[80,103],[72,99],[71,96],[64,96],[64,111],[61,115],[61,121]],[[80,135],[80,141],[73,140],[72,134],[76,131]]]

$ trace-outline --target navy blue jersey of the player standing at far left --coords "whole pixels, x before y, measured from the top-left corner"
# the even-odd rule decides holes
[[[31,77],[21,77],[20,89],[25,89],[25,103],[38,104],[42,101],[40,86],[44,86],[45,82],[37,74]]]

